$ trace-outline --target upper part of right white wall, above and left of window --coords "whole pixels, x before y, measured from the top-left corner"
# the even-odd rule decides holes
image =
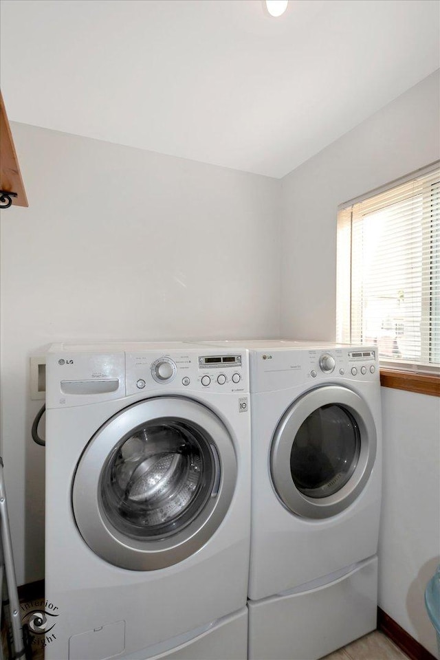
[[[281,333],[335,338],[336,209],[439,158],[439,72],[282,179]]]

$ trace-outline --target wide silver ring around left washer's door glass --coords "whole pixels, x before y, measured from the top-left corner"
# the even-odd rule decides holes
[[[181,422],[195,428],[210,445],[219,474],[199,514],[166,538],[140,540],[116,529],[104,511],[101,478],[107,459],[146,423]],[[72,486],[76,525],[89,548],[107,562],[133,571],[153,571],[177,564],[199,550],[227,513],[236,485],[237,461],[230,433],[202,404],[182,397],[138,401],[116,413],[90,439],[78,461]]]

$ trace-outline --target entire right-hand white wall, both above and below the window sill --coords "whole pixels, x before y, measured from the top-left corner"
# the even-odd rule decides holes
[[[287,175],[281,336],[334,339],[340,203],[440,157],[439,73]],[[439,562],[439,399],[382,388],[384,505],[380,606],[431,653],[423,590]]]

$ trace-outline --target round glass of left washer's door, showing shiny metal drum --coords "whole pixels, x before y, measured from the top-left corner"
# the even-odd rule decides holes
[[[214,451],[184,421],[147,421],[107,459],[100,483],[107,517],[131,538],[175,534],[211,495]]]

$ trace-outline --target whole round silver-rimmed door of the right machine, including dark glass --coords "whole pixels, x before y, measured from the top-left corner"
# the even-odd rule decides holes
[[[373,415],[353,391],[327,385],[287,408],[272,440],[272,481],[283,505],[305,518],[335,516],[360,495],[376,456]]]

